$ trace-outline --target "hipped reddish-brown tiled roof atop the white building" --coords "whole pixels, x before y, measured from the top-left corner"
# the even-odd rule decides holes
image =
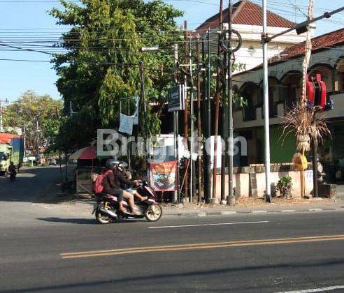
[[[206,22],[203,22],[196,31],[198,33],[205,33],[206,30],[215,29],[219,25],[220,13],[213,15],[208,18]],[[280,15],[272,13],[271,11],[267,12],[267,24],[268,27],[294,27],[294,22],[291,22]],[[228,22],[228,8],[223,11],[223,22]],[[263,10],[261,6],[252,3],[249,0],[241,0],[233,5],[233,15],[232,22],[234,24],[248,24],[248,25],[262,25],[263,22]]]

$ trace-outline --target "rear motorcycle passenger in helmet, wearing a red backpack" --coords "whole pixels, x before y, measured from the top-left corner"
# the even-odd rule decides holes
[[[123,198],[128,200],[129,206],[131,209],[131,213],[137,214],[135,211],[135,204],[134,204],[134,195],[128,193],[127,191],[123,190],[121,187],[122,183],[126,183],[129,185],[136,185],[137,181],[129,181],[124,178],[124,176],[120,176],[120,172],[117,170],[118,161],[114,159],[108,159],[106,161],[106,171],[110,170],[106,175],[106,180],[103,181],[104,192],[110,195],[117,196],[118,203],[120,205],[120,210],[125,212],[123,207]]]

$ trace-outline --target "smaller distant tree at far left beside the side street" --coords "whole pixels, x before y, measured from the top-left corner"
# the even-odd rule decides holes
[[[27,149],[36,147],[37,121],[41,143],[50,145],[59,132],[62,101],[48,95],[38,96],[26,91],[6,107],[3,115],[5,128],[22,128],[26,133]]]

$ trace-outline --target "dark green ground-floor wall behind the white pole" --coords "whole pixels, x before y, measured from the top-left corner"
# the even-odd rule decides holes
[[[296,137],[293,134],[281,137],[282,126],[270,126],[271,163],[292,163],[296,149]],[[264,128],[257,128],[257,140],[261,143],[260,156],[264,160]]]

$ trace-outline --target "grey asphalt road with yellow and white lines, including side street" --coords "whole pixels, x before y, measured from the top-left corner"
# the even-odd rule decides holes
[[[344,292],[343,212],[98,225],[33,208],[58,169],[30,172],[0,180],[0,292]]]

